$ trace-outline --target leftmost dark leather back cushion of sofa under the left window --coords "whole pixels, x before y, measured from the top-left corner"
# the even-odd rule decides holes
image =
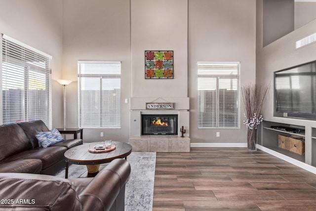
[[[16,153],[32,149],[25,132],[17,124],[0,126],[0,161]]]

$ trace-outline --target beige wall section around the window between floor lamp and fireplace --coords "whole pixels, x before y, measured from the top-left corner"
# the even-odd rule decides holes
[[[63,78],[67,86],[67,127],[78,127],[78,60],[121,61],[121,128],[86,129],[83,141],[128,141],[130,97],[130,1],[63,0]],[[100,132],[105,136],[100,137]]]

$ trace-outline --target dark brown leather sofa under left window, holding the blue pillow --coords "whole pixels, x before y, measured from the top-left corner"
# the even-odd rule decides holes
[[[65,140],[39,147],[37,131],[49,131],[41,120],[0,126],[0,172],[54,174],[65,166],[64,153],[82,144]]]

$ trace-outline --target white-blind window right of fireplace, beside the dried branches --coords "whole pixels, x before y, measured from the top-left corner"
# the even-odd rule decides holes
[[[198,128],[239,128],[239,62],[197,62]]]

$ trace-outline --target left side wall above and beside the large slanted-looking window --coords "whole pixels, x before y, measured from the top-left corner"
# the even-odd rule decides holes
[[[0,33],[51,55],[52,79],[60,79],[62,0],[0,0],[0,7]],[[62,87],[56,81],[52,81],[52,100],[52,127],[61,127]]]

